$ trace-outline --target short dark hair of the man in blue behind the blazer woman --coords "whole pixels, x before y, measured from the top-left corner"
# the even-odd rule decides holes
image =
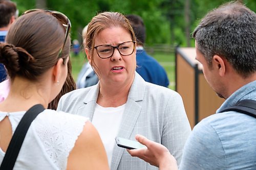
[[[138,44],[142,45],[146,39],[146,29],[143,19],[140,16],[134,14],[126,15],[126,18],[131,22]]]

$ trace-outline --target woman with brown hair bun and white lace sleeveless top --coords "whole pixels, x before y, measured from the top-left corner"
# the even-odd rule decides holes
[[[25,112],[36,104],[47,108],[60,92],[68,74],[70,27],[62,13],[30,10],[0,43],[0,62],[10,77],[10,93],[0,104],[0,162]],[[14,169],[108,169],[108,162],[88,118],[46,109],[30,125]]]

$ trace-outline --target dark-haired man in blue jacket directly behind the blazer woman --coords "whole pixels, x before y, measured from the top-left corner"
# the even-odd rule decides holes
[[[146,81],[160,86],[168,87],[169,80],[164,68],[153,57],[146,54],[143,43],[146,38],[146,30],[142,18],[138,15],[126,15],[133,27],[137,38],[136,71]]]

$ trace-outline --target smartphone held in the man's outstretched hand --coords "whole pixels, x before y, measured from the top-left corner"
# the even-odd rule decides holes
[[[122,137],[116,137],[115,139],[116,139],[116,144],[118,145],[118,147],[121,147],[121,148],[133,150],[133,149],[141,149],[146,147],[145,145],[135,140],[129,140]]]

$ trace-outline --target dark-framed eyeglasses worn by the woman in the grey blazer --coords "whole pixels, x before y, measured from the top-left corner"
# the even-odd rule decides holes
[[[98,45],[94,47],[98,56],[102,59],[110,58],[115,52],[115,48],[122,56],[130,56],[135,50],[135,41],[126,41],[117,46]]]

